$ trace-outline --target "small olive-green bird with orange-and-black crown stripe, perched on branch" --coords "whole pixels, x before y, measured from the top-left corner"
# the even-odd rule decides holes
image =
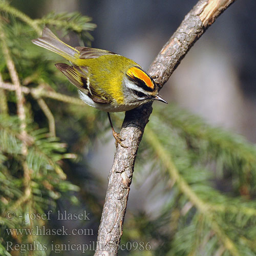
[[[66,58],[70,63],[55,66],[78,88],[79,97],[88,105],[108,112],[113,136],[125,146],[115,132],[110,112],[128,111],[137,106],[159,100],[158,86],[153,78],[133,60],[119,54],[89,47],[71,47],[44,28],[42,37],[32,42]]]

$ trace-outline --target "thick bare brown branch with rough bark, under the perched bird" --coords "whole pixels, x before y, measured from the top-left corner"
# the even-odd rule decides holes
[[[234,0],[200,0],[185,16],[148,70],[157,77],[156,82],[160,88],[207,27],[233,2]],[[112,256],[118,253],[135,158],[151,112],[152,104],[147,104],[125,113],[121,137],[126,139],[125,145],[129,147],[119,145],[115,153],[99,226],[98,248],[94,255]]]

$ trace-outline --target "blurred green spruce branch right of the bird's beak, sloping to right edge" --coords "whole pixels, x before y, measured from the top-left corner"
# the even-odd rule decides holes
[[[243,188],[246,188],[246,195],[253,197],[256,191],[254,144],[246,142],[240,135],[210,126],[202,118],[181,110],[175,104],[169,104],[164,111],[163,108],[155,109],[155,113],[160,117],[159,122],[168,120],[173,129],[189,138],[190,147],[197,148],[205,159],[215,160],[216,169],[222,170],[223,173],[223,166],[225,166],[225,169],[229,170],[225,173],[231,175],[233,185],[240,193]]]

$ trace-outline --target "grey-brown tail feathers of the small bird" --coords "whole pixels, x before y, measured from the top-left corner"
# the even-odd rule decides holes
[[[32,42],[37,46],[44,47],[59,54],[71,62],[74,62],[75,59],[79,58],[79,51],[65,44],[65,42],[62,42],[50,29],[46,27],[42,31],[42,37],[33,39]]]

